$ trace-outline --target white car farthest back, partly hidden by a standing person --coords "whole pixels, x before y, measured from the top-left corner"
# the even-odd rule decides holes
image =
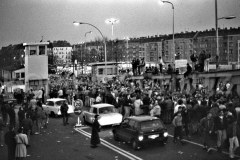
[[[48,99],[46,105],[42,105],[42,107],[48,114],[57,117],[61,115],[60,107],[63,104],[63,101],[66,101],[66,99],[62,98]],[[68,114],[70,113],[74,113],[74,107],[72,105],[68,105]]]

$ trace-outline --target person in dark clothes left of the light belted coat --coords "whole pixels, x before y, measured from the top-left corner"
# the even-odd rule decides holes
[[[16,149],[15,136],[16,136],[16,133],[14,132],[14,127],[9,126],[9,131],[4,136],[5,144],[8,147],[8,160],[15,160],[15,149]]]

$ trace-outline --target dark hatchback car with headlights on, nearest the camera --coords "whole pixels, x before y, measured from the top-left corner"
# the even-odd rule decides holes
[[[132,116],[123,120],[118,126],[113,126],[115,141],[130,142],[134,150],[138,150],[144,143],[158,142],[165,145],[168,132],[163,122],[152,116]]]

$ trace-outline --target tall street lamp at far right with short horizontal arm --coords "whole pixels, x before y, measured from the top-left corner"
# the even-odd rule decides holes
[[[216,22],[216,42],[217,42],[217,52],[216,52],[216,70],[219,68],[219,40],[218,40],[218,20],[221,19],[234,19],[235,16],[227,16],[218,18],[217,0],[215,0],[215,22]],[[229,61],[229,59],[228,59]]]

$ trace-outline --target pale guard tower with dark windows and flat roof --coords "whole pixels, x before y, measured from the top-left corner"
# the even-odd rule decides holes
[[[25,88],[48,91],[48,56],[49,42],[23,43],[25,46]]]

